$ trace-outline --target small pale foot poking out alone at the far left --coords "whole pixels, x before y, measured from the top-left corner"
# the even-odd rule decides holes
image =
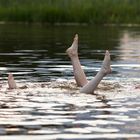
[[[17,88],[13,74],[11,74],[11,73],[8,75],[8,86],[9,86],[9,89]]]

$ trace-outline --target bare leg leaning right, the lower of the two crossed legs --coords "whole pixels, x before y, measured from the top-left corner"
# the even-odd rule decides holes
[[[105,57],[103,60],[103,65],[102,65],[100,71],[90,82],[88,82],[84,87],[81,88],[80,92],[89,93],[89,94],[94,93],[94,90],[97,88],[100,81],[108,73],[111,73],[110,54],[108,51],[106,51]]]

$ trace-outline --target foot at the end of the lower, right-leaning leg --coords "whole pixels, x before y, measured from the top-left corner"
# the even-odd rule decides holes
[[[106,53],[105,53],[105,57],[104,57],[104,60],[103,60],[103,64],[102,64],[101,71],[102,71],[104,74],[109,74],[109,73],[111,73],[111,67],[110,67],[110,53],[109,53],[108,50],[106,50]]]

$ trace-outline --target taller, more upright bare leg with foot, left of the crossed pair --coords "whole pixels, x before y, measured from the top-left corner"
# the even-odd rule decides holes
[[[66,50],[66,53],[71,59],[74,77],[78,86],[84,86],[88,83],[86,75],[81,68],[81,64],[78,57],[78,34],[75,35],[73,43],[70,48]]]

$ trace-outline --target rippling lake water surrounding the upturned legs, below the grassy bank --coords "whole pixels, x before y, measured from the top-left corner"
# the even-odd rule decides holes
[[[90,80],[110,50],[112,73],[79,93],[65,50],[79,34]],[[0,139],[140,139],[140,28],[0,25]],[[12,72],[18,86],[7,89]]]

